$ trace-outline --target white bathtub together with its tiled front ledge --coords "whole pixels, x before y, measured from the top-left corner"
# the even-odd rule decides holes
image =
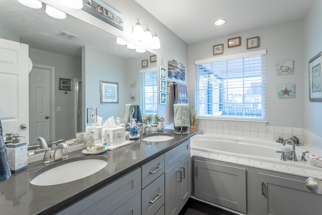
[[[307,162],[281,161],[282,144],[247,137],[229,137],[218,134],[197,134],[191,138],[191,156],[250,166],[275,172],[322,180],[322,168]],[[285,147],[291,148],[291,145]],[[310,146],[296,146],[296,155],[304,151],[318,151]],[[312,153],[308,153],[311,155]]]

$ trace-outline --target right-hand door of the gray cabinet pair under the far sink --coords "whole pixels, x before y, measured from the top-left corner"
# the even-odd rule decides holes
[[[190,153],[180,160],[181,182],[180,182],[180,209],[186,204],[191,193],[191,158]],[[180,174],[179,174],[180,175]],[[179,176],[180,177],[180,176]]]

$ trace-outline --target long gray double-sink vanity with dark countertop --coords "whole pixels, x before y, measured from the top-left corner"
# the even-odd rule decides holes
[[[174,134],[173,130],[165,132]],[[4,214],[165,214],[166,210],[177,214],[191,193],[188,175],[194,134],[174,134],[162,142],[137,139],[101,155],[71,152],[68,159],[103,156],[108,165],[64,184],[30,184],[31,175],[45,166],[41,161],[31,163],[0,183],[0,207]]]

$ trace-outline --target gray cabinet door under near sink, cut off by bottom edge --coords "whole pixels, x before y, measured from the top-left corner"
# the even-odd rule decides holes
[[[136,194],[125,204],[116,209],[111,215],[141,215],[141,193]]]

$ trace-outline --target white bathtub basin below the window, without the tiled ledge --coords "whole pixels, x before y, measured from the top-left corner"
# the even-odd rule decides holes
[[[191,150],[208,152],[215,155],[226,155],[229,157],[247,158],[250,160],[267,161],[267,162],[289,162],[280,161],[281,154],[276,151],[281,151],[283,147],[292,149],[292,145],[282,144],[269,140],[245,138],[245,137],[229,137],[215,134],[196,134],[190,138]],[[296,146],[297,157],[305,152],[305,146]],[[300,158],[298,158],[300,161]]]

